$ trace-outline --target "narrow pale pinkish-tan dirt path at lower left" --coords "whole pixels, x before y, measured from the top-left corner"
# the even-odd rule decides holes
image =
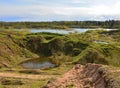
[[[29,75],[29,74],[18,74],[9,72],[0,72],[0,77],[10,77],[10,78],[22,78],[22,79],[47,79],[54,77],[53,75]]]

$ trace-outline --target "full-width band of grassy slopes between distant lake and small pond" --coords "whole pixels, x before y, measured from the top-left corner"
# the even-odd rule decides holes
[[[82,64],[101,63],[119,66],[119,34],[120,31],[101,30],[69,35],[1,31],[0,64],[15,66],[37,54],[52,58],[52,61],[58,64],[72,61],[73,58],[73,62]],[[108,44],[94,41],[105,41]]]

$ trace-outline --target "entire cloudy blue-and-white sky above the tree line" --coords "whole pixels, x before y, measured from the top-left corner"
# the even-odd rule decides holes
[[[0,21],[120,20],[120,0],[0,0]]]

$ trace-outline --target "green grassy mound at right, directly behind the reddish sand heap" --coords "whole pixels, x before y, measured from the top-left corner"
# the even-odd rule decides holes
[[[120,48],[109,44],[92,44],[77,57],[76,63],[97,63],[120,66]]]

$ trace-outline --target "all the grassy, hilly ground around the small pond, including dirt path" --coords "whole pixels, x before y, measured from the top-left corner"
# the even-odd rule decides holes
[[[117,68],[119,56],[120,30],[55,34],[1,29],[0,88],[41,88],[76,64],[96,63]],[[47,59],[56,66],[44,69],[21,66],[36,58]]]

